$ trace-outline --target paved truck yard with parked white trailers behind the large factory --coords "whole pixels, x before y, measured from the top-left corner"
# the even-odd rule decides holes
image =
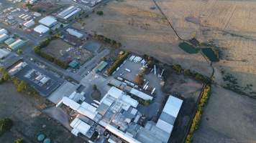
[[[113,77],[122,77],[124,79],[127,79],[129,82],[134,82],[134,78],[137,74],[140,73],[142,70],[143,64],[140,62],[135,62],[129,60],[131,56],[136,55],[130,55],[124,63],[119,66],[119,69],[112,74]],[[151,70],[152,71],[152,70]],[[162,71],[162,69],[157,69],[156,74],[154,71],[145,74],[144,76],[144,84],[141,86],[141,91],[145,92],[146,94],[154,97],[153,102],[148,105],[147,107],[143,106],[142,104],[139,105],[138,109],[142,114],[145,114],[148,119],[156,119],[157,114],[160,111],[161,104],[163,104],[165,100],[166,94],[162,92],[162,80],[160,77],[158,77],[158,74]],[[147,86],[146,86],[147,84]],[[147,87],[142,89],[143,87]],[[152,94],[152,90],[155,89],[155,92]]]

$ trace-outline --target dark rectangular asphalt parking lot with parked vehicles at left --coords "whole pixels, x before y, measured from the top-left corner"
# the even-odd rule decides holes
[[[50,95],[55,89],[57,89],[60,84],[63,83],[63,79],[55,77],[52,73],[39,69],[36,66],[25,66],[22,70],[17,72],[15,76],[18,79],[24,80],[29,85],[34,87],[40,94],[44,97]],[[48,81],[44,83],[44,79],[38,80],[37,77],[47,78]],[[41,82],[42,80],[42,82]]]

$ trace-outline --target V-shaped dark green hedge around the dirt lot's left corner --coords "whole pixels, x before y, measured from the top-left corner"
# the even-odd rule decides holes
[[[65,63],[63,61],[60,61],[60,59],[57,59],[54,56],[51,56],[50,54],[47,54],[47,53],[45,53],[41,50],[42,48],[44,48],[45,46],[50,44],[50,41],[52,41],[54,39],[58,39],[58,38],[60,38],[59,34],[55,34],[55,35],[52,35],[52,36],[48,37],[47,39],[42,41],[39,45],[35,46],[34,51],[35,51],[36,54],[42,56],[43,58],[47,59],[48,61],[51,61],[51,62],[57,64],[61,68],[68,69],[68,64],[67,63]]]

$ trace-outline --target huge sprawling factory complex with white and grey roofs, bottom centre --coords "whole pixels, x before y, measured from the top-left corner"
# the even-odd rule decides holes
[[[56,105],[65,104],[78,112],[70,124],[73,134],[81,133],[90,139],[93,132],[100,132],[99,128],[102,128],[110,133],[108,141],[113,141],[109,137],[114,135],[119,140],[113,142],[129,143],[167,143],[183,103],[183,100],[170,96],[157,123],[149,121],[142,127],[139,124],[142,114],[137,109],[139,102],[116,87],[111,87],[100,102],[88,104],[79,95],[74,97],[63,97]]]

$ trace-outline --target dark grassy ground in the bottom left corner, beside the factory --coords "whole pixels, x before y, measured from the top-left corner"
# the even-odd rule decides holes
[[[27,142],[36,142],[37,134],[40,133],[46,134],[54,142],[83,142],[42,114],[37,109],[40,104],[32,104],[32,99],[17,93],[13,84],[1,84],[0,95],[0,118],[9,117],[14,121],[11,132],[1,136],[0,142],[11,143],[18,137],[23,137]]]

